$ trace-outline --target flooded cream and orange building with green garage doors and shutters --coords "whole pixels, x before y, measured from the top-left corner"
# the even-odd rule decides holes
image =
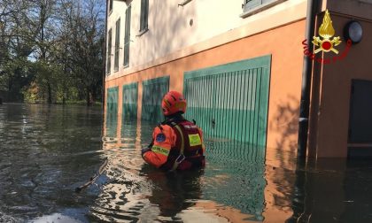
[[[174,89],[186,96],[187,117],[207,138],[251,143],[267,156],[276,150],[295,156],[298,121],[306,122],[300,104],[308,70],[307,156],[371,155],[372,1],[314,3],[308,36],[320,37],[315,50],[323,50],[306,68],[312,57],[304,55],[311,24],[306,0],[109,0],[106,116],[159,121],[161,97]],[[329,42],[337,36],[341,42],[324,42],[319,33],[326,10],[335,30]],[[344,35],[351,20],[362,28],[352,46]],[[360,35],[358,24],[353,38]]]

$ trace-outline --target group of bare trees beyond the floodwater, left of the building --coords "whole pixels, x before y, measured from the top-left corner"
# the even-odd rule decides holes
[[[32,93],[34,101],[49,104],[85,97],[89,105],[99,99],[104,4],[101,0],[2,0],[0,90],[12,96],[23,92],[27,98]]]

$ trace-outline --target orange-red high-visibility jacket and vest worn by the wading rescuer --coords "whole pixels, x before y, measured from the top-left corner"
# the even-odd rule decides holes
[[[163,170],[186,170],[205,165],[203,132],[194,123],[181,119],[154,128],[151,150],[143,159]]]

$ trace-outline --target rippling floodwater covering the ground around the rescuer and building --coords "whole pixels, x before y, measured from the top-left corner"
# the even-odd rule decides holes
[[[204,170],[163,173],[140,156],[154,126],[121,122],[100,108],[0,105],[0,222],[372,222],[369,160],[304,166],[206,139]]]

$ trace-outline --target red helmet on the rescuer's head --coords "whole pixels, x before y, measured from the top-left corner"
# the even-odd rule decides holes
[[[172,115],[178,111],[186,111],[186,100],[181,93],[171,90],[161,101],[161,108],[165,116]]]

